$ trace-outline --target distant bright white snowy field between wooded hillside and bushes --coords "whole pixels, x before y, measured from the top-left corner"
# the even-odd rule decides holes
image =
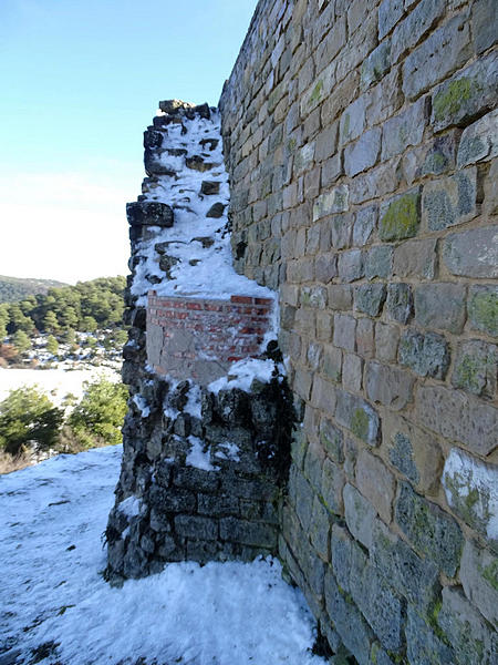
[[[21,386],[39,386],[42,391],[50,393],[52,401],[60,405],[68,393],[79,400],[83,396],[84,381],[97,381],[105,377],[108,380],[121,380],[120,375],[104,367],[94,369],[0,369],[0,401],[10,390]]]

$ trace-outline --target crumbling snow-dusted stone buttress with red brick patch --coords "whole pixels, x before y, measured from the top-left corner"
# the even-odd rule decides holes
[[[113,584],[172,561],[276,555],[289,477],[293,406],[270,331],[273,294],[231,267],[219,116],[207,104],[160,106],[144,136],[144,193],[127,205],[129,400],[105,534]]]

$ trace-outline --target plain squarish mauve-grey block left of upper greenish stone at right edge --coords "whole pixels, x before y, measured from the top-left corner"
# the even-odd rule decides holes
[[[464,328],[465,314],[465,288],[459,284],[423,284],[415,289],[415,320],[424,328],[458,335]]]

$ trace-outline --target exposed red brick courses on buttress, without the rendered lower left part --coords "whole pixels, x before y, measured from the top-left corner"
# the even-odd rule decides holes
[[[272,305],[271,298],[160,297],[153,290],[148,293],[147,327],[160,326],[165,339],[181,329],[195,332],[201,341],[203,359],[209,356],[217,362],[235,362],[260,352],[270,327]],[[175,357],[195,359],[190,351],[176,352]],[[154,369],[167,371],[165,367]]]

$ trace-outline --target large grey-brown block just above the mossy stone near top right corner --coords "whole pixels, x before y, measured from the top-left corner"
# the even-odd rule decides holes
[[[426,0],[425,3],[433,3],[433,0]],[[439,0],[438,4],[444,6],[444,2]],[[393,48],[394,40],[395,35]],[[459,14],[435,30],[406,58],[403,64],[403,92],[408,99],[417,98],[465,64],[470,55],[470,28],[465,14]]]

